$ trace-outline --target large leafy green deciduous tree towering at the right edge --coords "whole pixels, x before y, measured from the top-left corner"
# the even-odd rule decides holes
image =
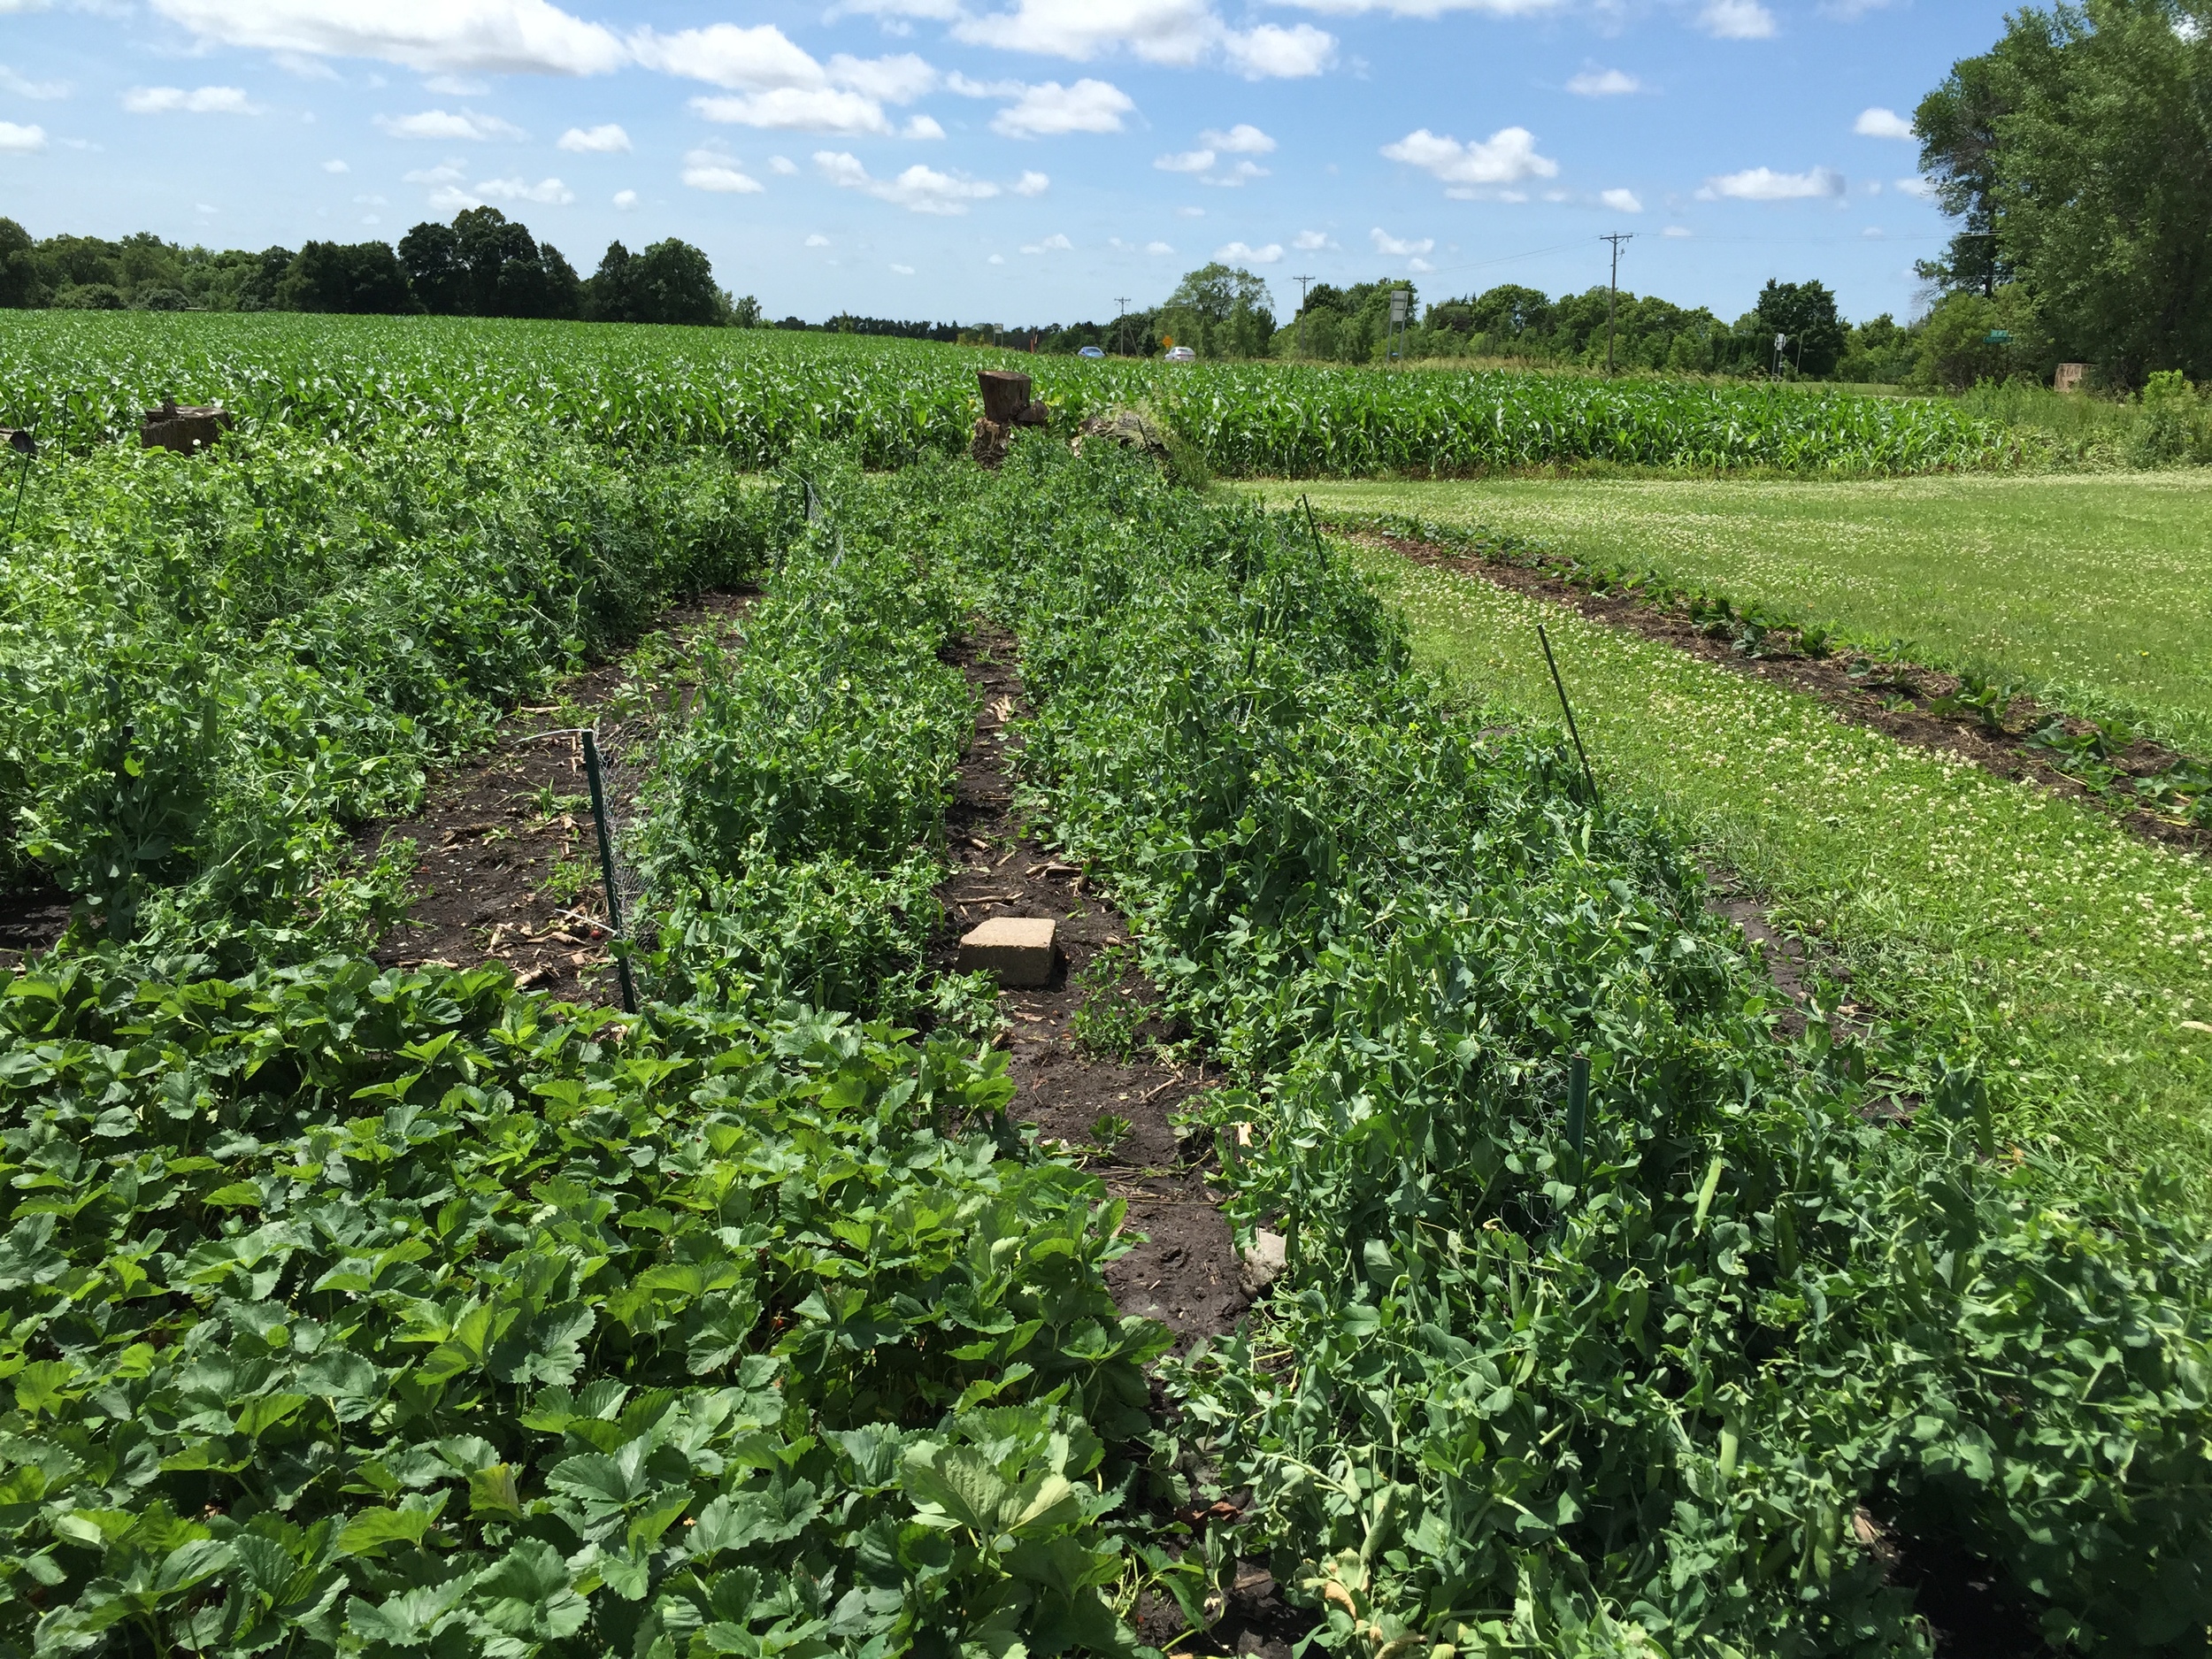
[[[2212,376],[2212,0],[2022,9],[1913,124],[1964,221],[1927,274],[2017,279],[2055,347],[2119,385]]]

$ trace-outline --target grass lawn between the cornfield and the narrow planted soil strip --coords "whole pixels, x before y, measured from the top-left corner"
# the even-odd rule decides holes
[[[2212,469],[1798,480],[1259,484],[1511,531],[2015,679],[2212,752]]]

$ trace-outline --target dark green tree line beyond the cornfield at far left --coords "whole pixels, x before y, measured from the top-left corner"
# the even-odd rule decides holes
[[[139,232],[33,239],[0,219],[0,305],[150,312],[354,312],[369,316],[551,316],[593,323],[750,327],[754,299],[714,285],[708,257],[668,237],[608,243],[577,276],[551,241],[498,208],[420,223],[387,241],[310,241],[261,252],[181,248]]]

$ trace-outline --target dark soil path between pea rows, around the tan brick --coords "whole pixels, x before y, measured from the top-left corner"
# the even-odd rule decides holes
[[[1110,971],[1108,962],[1102,971],[1099,953],[1128,942],[1128,922],[1082,869],[1026,836],[1015,818],[1009,757],[1020,739],[1006,732],[1006,721],[1026,703],[1013,655],[1004,635],[962,641],[953,653],[984,708],[945,814],[945,860],[953,874],[938,889],[947,920],[929,947],[929,967],[949,971],[960,936],[991,916],[1060,922],[1051,984],[1000,993],[1000,1009],[1013,1020],[1006,1037],[1009,1073],[1020,1088],[1013,1115],[1064,1141],[1128,1203],[1126,1225],[1146,1241],[1106,1270],[1106,1283],[1124,1312],[1157,1318],[1175,1332],[1177,1352],[1186,1352],[1201,1336],[1232,1329],[1250,1305],[1230,1228],[1206,1186],[1212,1159],[1203,1137],[1186,1141],[1175,1126],[1206,1086],[1206,1064],[1164,1064],[1157,1051],[1144,1053],[1148,1040],[1170,1035],[1157,1020],[1146,1022],[1126,1064],[1075,1040],[1077,1011],[1108,989],[1097,980],[1110,980],[1121,998],[1157,1002],[1157,995],[1133,969]]]

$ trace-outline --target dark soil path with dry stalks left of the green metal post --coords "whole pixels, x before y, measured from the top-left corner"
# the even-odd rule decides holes
[[[677,639],[726,637],[752,606],[752,595],[708,593],[668,611],[657,630]],[[411,818],[374,825],[361,847],[416,843],[418,898],[385,936],[385,967],[480,967],[504,962],[522,989],[544,989],[568,1002],[619,1000],[606,951],[606,889],[591,823],[582,741],[562,728],[608,710],[630,679],[630,661],[586,670],[562,688],[564,701],[518,708],[498,748],[434,779]],[[657,688],[648,688],[650,710]],[[602,757],[615,768],[626,741],[641,730],[599,726]],[[615,768],[608,792],[617,816],[637,803],[637,774]],[[542,792],[555,796],[540,807]]]

